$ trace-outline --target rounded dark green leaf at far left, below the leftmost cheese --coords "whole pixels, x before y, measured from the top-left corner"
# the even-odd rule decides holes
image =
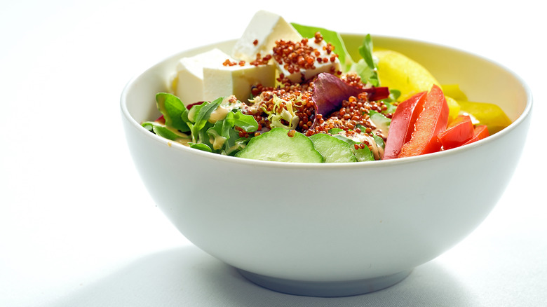
[[[158,110],[166,119],[166,126],[173,127],[182,132],[190,131],[184,117],[187,117],[188,109],[179,97],[170,93],[157,93],[156,104]]]

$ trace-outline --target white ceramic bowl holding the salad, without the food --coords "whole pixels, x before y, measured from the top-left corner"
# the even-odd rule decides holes
[[[344,34],[349,50],[363,36]],[[170,142],[140,126],[158,116],[177,60],[130,81],[121,113],[130,152],[151,197],[180,232],[253,282],[281,292],[344,296],[382,289],[468,236],[496,205],[520,158],[532,97],[501,65],[470,53],[374,36],[374,46],[424,64],[440,83],[495,102],[513,123],[458,149],[389,161],[253,161]],[[357,55],[355,58],[358,58]]]

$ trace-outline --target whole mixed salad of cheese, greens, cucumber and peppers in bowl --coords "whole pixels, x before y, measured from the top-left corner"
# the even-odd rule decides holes
[[[265,161],[342,163],[419,156],[511,124],[370,35],[348,52],[331,30],[259,11],[227,54],[182,57],[161,116],[142,125],[194,149]]]

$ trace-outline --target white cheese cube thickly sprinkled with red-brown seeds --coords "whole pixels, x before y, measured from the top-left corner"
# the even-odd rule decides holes
[[[281,63],[276,61],[280,73],[290,81],[293,83],[300,83],[302,81],[307,81],[322,72],[337,74],[338,71],[342,71],[340,60],[338,60],[338,57],[335,57],[335,53],[327,52],[327,43],[325,40],[316,43],[315,39],[311,38],[308,39],[307,46],[313,50],[308,54],[313,57],[313,67],[306,69],[298,64],[291,64],[288,66],[284,61]],[[316,51],[318,54],[316,54]]]

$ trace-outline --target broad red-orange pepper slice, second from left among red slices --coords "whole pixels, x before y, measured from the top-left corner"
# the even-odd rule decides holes
[[[438,86],[433,85],[427,93],[424,110],[418,116],[410,141],[400,150],[398,158],[418,156],[439,151],[441,144],[437,139],[439,132],[446,129],[448,123],[448,104]]]

